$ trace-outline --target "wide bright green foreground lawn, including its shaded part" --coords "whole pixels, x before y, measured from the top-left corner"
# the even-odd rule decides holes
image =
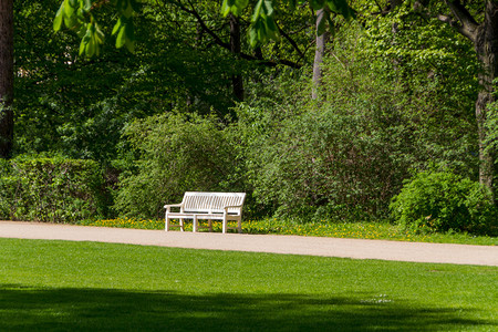
[[[496,331],[498,268],[0,239],[1,331]]]

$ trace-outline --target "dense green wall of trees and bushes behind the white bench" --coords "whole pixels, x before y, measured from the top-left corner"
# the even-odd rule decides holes
[[[488,2],[452,3],[483,25]],[[329,10],[326,31],[323,9],[276,7],[264,42],[247,37],[250,9],[145,1],[134,52],[102,6],[98,56],[53,32],[60,1],[13,6],[0,218],[160,218],[186,190],[230,190],[249,218],[496,230],[498,106],[485,121],[476,106],[494,85],[444,1],[352,1],[355,19]]]

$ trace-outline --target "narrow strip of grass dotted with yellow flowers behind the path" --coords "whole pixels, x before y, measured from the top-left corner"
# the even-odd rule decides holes
[[[164,220],[137,220],[128,218],[86,220],[82,225],[125,227],[141,229],[164,229]],[[191,222],[187,222],[191,230]],[[221,231],[221,222],[214,222],[214,230]],[[473,236],[468,234],[413,234],[388,222],[295,222],[278,219],[242,221],[246,234],[298,235],[334,238],[382,239],[417,242],[464,243],[498,246],[497,237]]]

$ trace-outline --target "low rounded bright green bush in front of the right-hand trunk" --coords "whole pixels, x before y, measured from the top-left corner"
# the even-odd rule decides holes
[[[449,172],[421,172],[390,206],[396,222],[414,231],[492,232],[497,209],[489,189]]]

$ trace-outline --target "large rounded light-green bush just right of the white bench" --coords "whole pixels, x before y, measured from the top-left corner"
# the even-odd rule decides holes
[[[384,218],[417,152],[402,91],[364,66],[325,66],[323,100],[302,83],[238,107],[255,197],[278,216]],[[304,91],[302,93],[301,91]]]

